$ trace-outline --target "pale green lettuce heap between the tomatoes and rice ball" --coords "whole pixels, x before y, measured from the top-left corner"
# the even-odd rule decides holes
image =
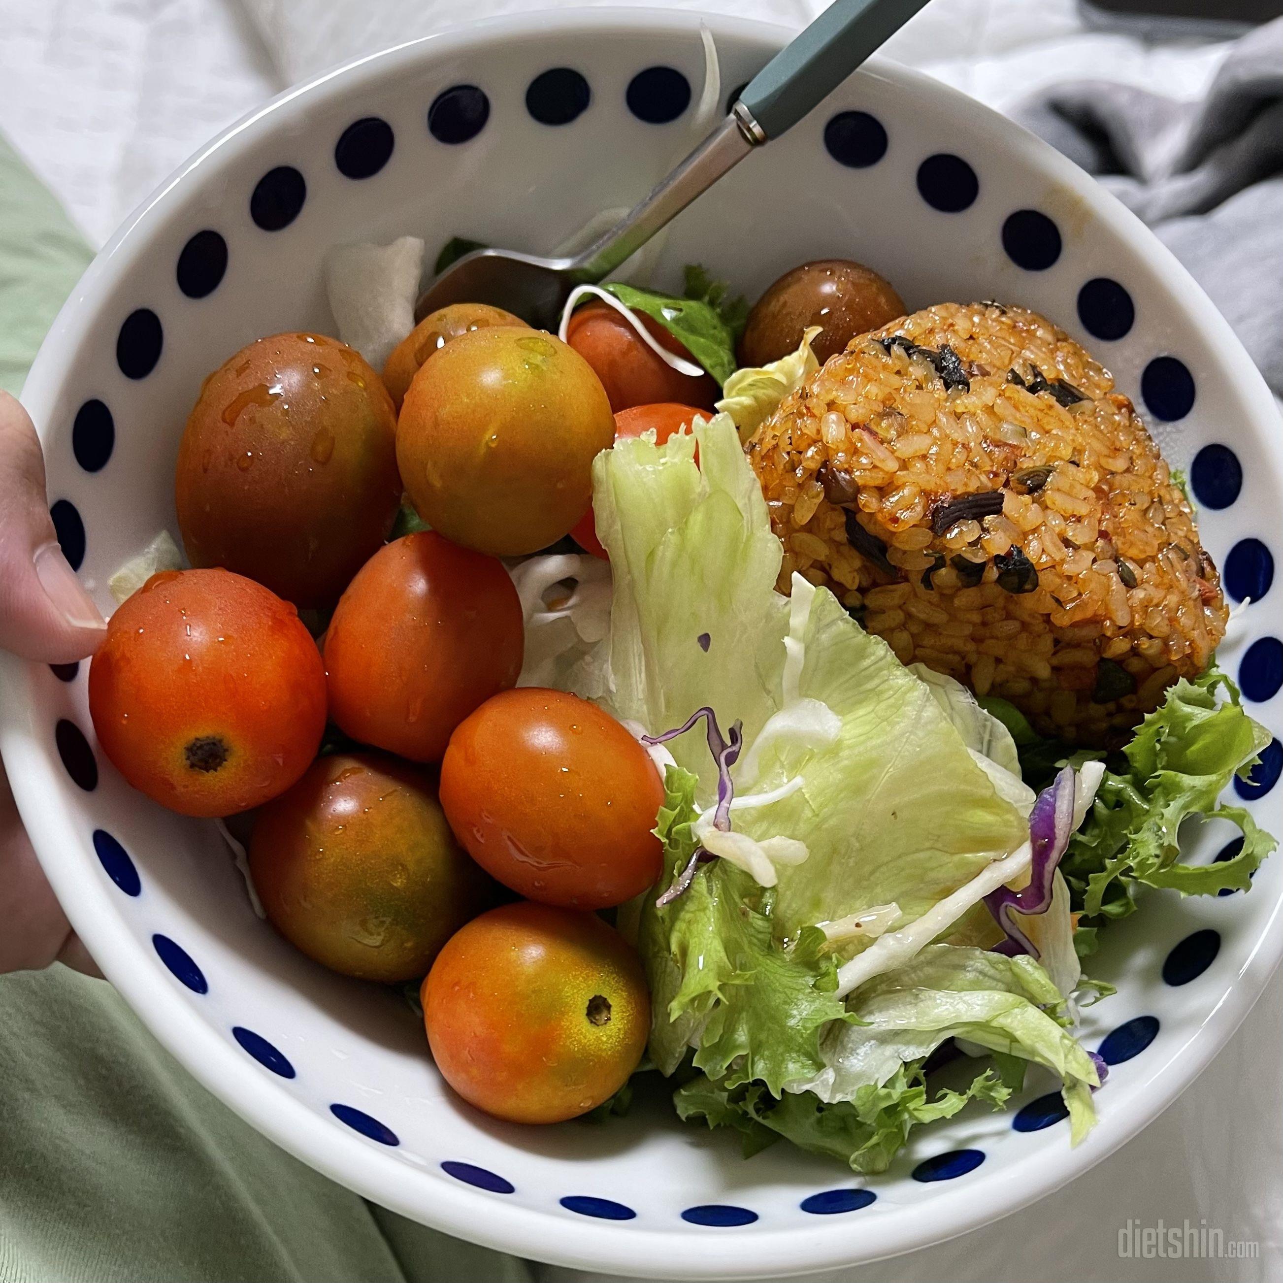
[[[663,446],[617,443],[594,464],[594,508],[612,617],[580,672],[671,752],[670,893],[621,925],[648,969],[652,1058],[672,1074],[689,1056],[701,1075],[679,1110],[880,1170],[916,1123],[1005,1098],[987,1070],[929,1097],[922,1061],[961,1035],[1008,1070],[1060,1074],[1080,1135],[1097,1078],[1062,1028],[1066,994],[1029,956],[933,943],[1028,880],[1033,794],[1010,734],[826,589],[775,590],[781,548],[729,416]],[[702,707],[743,736],[729,780],[698,733],[659,734]]]

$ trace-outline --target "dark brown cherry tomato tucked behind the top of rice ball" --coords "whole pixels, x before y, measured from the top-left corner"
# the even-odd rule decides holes
[[[811,350],[820,364],[867,334],[905,314],[890,282],[862,263],[830,258],[785,272],[748,316],[739,341],[742,366],[769,366],[797,352],[808,326],[821,332]]]

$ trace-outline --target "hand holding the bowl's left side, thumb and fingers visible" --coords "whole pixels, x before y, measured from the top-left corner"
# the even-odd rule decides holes
[[[36,430],[0,391],[0,649],[71,663],[92,654],[105,630],[58,547]],[[50,962],[99,974],[40,869],[0,763],[0,973]]]

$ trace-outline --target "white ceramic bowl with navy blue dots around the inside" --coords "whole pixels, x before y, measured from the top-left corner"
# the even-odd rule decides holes
[[[709,24],[724,101],[785,33]],[[653,67],[671,71],[634,80]],[[550,68],[577,71],[590,87],[568,123],[539,123],[527,109],[527,86]],[[463,235],[548,250],[640,196],[688,149],[702,78],[693,17],[504,19],[294,90],[180,169],[76,287],[27,384],[64,547],[100,604],[109,574],[159,529],[174,530],[174,454],[203,376],[258,335],[332,327],[321,268],[331,245],[409,232],[434,248]],[[567,85],[579,82],[536,92],[536,110],[570,114]],[[450,94],[457,86],[473,91]],[[429,130],[434,103],[444,104],[432,115],[443,137],[480,130],[440,141]],[[657,123],[634,108],[677,114]],[[1166,250],[1035,139],[875,63],[689,209],[658,272],[675,284],[698,260],[752,298],[785,268],[829,255],[871,263],[911,307],[1029,304],[1166,421],[1166,448],[1192,467],[1203,538],[1228,566],[1232,595],[1264,598],[1246,612],[1246,640],[1223,656],[1243,675],[1252,713],[1277,722],[1283,600],[1268,589],[1265,545],[1280,494],[1278,420],[1228,326]],[[210,824],[169,815],[123,783],[95,748],[83,666],[72,676],[6,659],[0,685],[0,748],[40,858],[157,1038],[334,1179],[544,1260],[766,1275],[971,1229],[1080,1174],[1153,1119],[1225,1042],[1283,949],[1278,860],[1251,894],[1157,896],[1109,931],[1092,970],[1119,994],[1088,1012],[1085,1041],[1094,1048],[1110,1034],[1115,1067],[1097,1097],[1100,1125],[1078,1150],[1042,1098],[1048,1082],[1026,1091],[1024,1112],[969,1110],[921,1130],[870,1180],[785,1144],[744,1161],[730,1137],[679,1125],[658,1092],[604,1126],[508,1126],[443,1087],[398,997],[321,970],[253,915]],[[1283,789],[1269,788],[1280,761],[1275,743],[1247,790],[1275,833]],[[1224,842],[1197,837],[1202,858]]]

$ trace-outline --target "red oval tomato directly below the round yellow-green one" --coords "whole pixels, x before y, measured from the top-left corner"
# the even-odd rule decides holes
[[[521,672],[521,599],[503,563],[435,530],[380,548],[325,638],[330,716],[353,739],[439,762],[450,733]]]

